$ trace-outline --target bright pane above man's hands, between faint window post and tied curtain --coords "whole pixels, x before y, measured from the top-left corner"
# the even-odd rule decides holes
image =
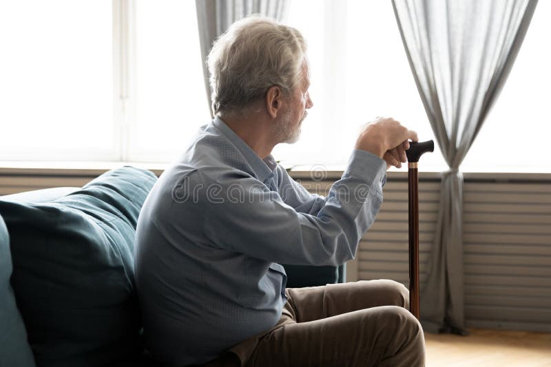
[[[377,116],[393,117],[417,131],[419,140],[435,139],[402,45],[391,1],[348,2],[349,57],[346,60],[346,105],[348,129],[342,141],[352,144],[355,126]],[[349,132],[349,133],[346,133]],[[436,144],[436,142],[435,142]],[[444,159],[424,155],[422,170],[443,170]],[[407,165],[402,165],[407,170]]]

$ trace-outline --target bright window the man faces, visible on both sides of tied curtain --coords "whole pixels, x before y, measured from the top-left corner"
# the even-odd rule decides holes
[[[506,85],[461,164],[464,172],[551,172],[550,15],[551,3],[540,1]],[[309,43],[314,107],[301,140],[276,147],[284,164],[342,167],[360,126],[378,115],[396,118],[421,140],[434,139],[390,1],[293,0],[287,23]],[[438,147],[421,167],[447,169]]]

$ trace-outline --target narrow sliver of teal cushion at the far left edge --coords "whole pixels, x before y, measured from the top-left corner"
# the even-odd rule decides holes
[[[34,358],[27,342],[25,324],[15,303],[11,276],[10,237],[0,216],[0,366],[33,367]]]

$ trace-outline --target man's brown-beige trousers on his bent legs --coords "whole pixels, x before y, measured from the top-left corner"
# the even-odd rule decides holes
[[[423,330],[403,285],[360,280],[286,293],[277,325],[207,366],[424,366]]]

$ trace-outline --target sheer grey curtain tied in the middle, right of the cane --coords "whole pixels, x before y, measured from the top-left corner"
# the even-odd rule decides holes
[[[435,242],[420,298],[426,331],[464,333],[459,166],[505,84],[536,5],[537,0],[393,0],[419,95],[449,166],[442,173]],[[503,121],[503,129],[512,123],[517,122]],[[486,159],[504,157],[495,152]]]

